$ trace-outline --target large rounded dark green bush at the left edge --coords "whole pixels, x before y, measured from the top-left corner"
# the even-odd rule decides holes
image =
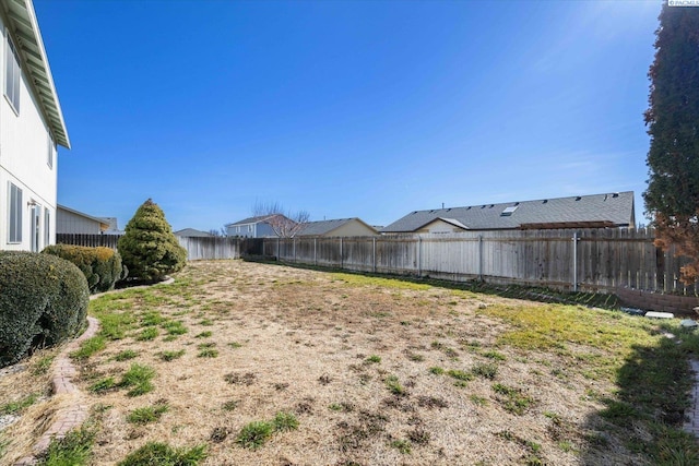
[[[75,336],[86,324],[88,297],[85,276],[70,262],[0,252],[0,367]]]

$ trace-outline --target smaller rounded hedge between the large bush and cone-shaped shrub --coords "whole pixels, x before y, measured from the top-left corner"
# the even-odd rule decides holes
[[[75,264],[85,275],[91,294],[114,289],[114,285],[127,275],[126,267],[121,265],[121,255],[111,248],[52,244],[42,252]]]

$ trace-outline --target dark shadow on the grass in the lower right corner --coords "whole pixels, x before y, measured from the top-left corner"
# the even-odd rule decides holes
[[[581,464],[609,464],[607,452],[619,447],[629,453],[627,464],[637,464],[638,454],[653,465],[699,464],[697,438],[683,431],[694,384],[688,360],[699,355],[699,336],[672,324],[657,331],[674,337],[632,347],[616,374],[618,393],[602,397],[605,408],[585,421]]]

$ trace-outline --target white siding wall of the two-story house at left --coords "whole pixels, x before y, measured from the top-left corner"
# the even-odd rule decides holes
[[[10,29],[0,9],[0,249],[31,250],[31,204],[40,206],[39,212],[39,242],[40,250],[47,244],[56,242],[56,192],[58,157],[56,145],[51,146],[52,166],[48,165],[49,131],[40,106],[27,84],[25,65],[22,68],[20,82],[19,113],[4,96],[7,40]],[[15,48],[17,40],[13,38]],[[20,60],[22,61],[21,52]],[[9,240],[9,192],[13,183],[22,190],[22,241],[11,243]],[[46,225],[46,210],[49,211],[49,225]],[[48,227],[48,234],[47,234]]]

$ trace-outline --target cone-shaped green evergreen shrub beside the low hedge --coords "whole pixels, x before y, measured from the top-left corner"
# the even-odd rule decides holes
[[[187,262],[187,250],[179,246],[161,207],[150,199],[127,224],[118,249],[130,276],[143,280],[159,280]]]

